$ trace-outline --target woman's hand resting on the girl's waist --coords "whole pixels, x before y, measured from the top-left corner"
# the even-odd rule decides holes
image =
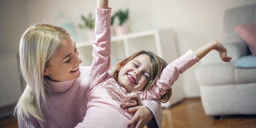
[[[127,124],[128,128],[143,128],[154,117],[153,113],[145,106],[136,106],[125,109],[125,111],[128,113],[135,112],[131,121]]]

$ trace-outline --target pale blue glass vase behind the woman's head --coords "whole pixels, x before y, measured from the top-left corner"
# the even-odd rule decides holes
[[[55,18],[54,24],[56,26],[60,26],[64,29],[67,30],[67,32],[70,33],[70,37],[73,40],[76,40],[76,29],[75,29],[75,24],[72,21],[72,18],[64,15],[62,11],[60,11],[59,15]]]

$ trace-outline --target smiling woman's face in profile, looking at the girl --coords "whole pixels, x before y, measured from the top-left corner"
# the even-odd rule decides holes
[[[76,44],[68,37],[60,44],[58,51],[50,58],[49,66],[44,68],[44,76],[48,76],[54,81],[78,79],[81,74],[79,70],[81,62]]]

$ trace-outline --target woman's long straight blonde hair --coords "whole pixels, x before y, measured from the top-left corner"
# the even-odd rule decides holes
[[[70,34],[65,29],[46,23],[30,26],[23,33],[20,39],[20,70],[27,85],[15,107],[15,115],[22,119],[32,115],[45,121],[41,110],[42,103],[47,104],[44,68],[49,66],[49,59],[68,36]]]

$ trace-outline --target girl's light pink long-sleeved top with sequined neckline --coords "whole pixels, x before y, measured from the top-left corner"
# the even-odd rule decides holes
[[[108,73],[111,54],[110,14],[110,8],[96,9],[96,41],[93,42],[87,111],[83,122],[76,128],[125,128],[133,117],[133,114],[124,110],[127,105],[131,107],[140,105],[141,100],[160,99],[160,95],[172,87],[180,73],[199,61],[194,52],[189,50],[169,64],[149,90],[127,93]],[[156,121],[160,127],[161,121]]]

